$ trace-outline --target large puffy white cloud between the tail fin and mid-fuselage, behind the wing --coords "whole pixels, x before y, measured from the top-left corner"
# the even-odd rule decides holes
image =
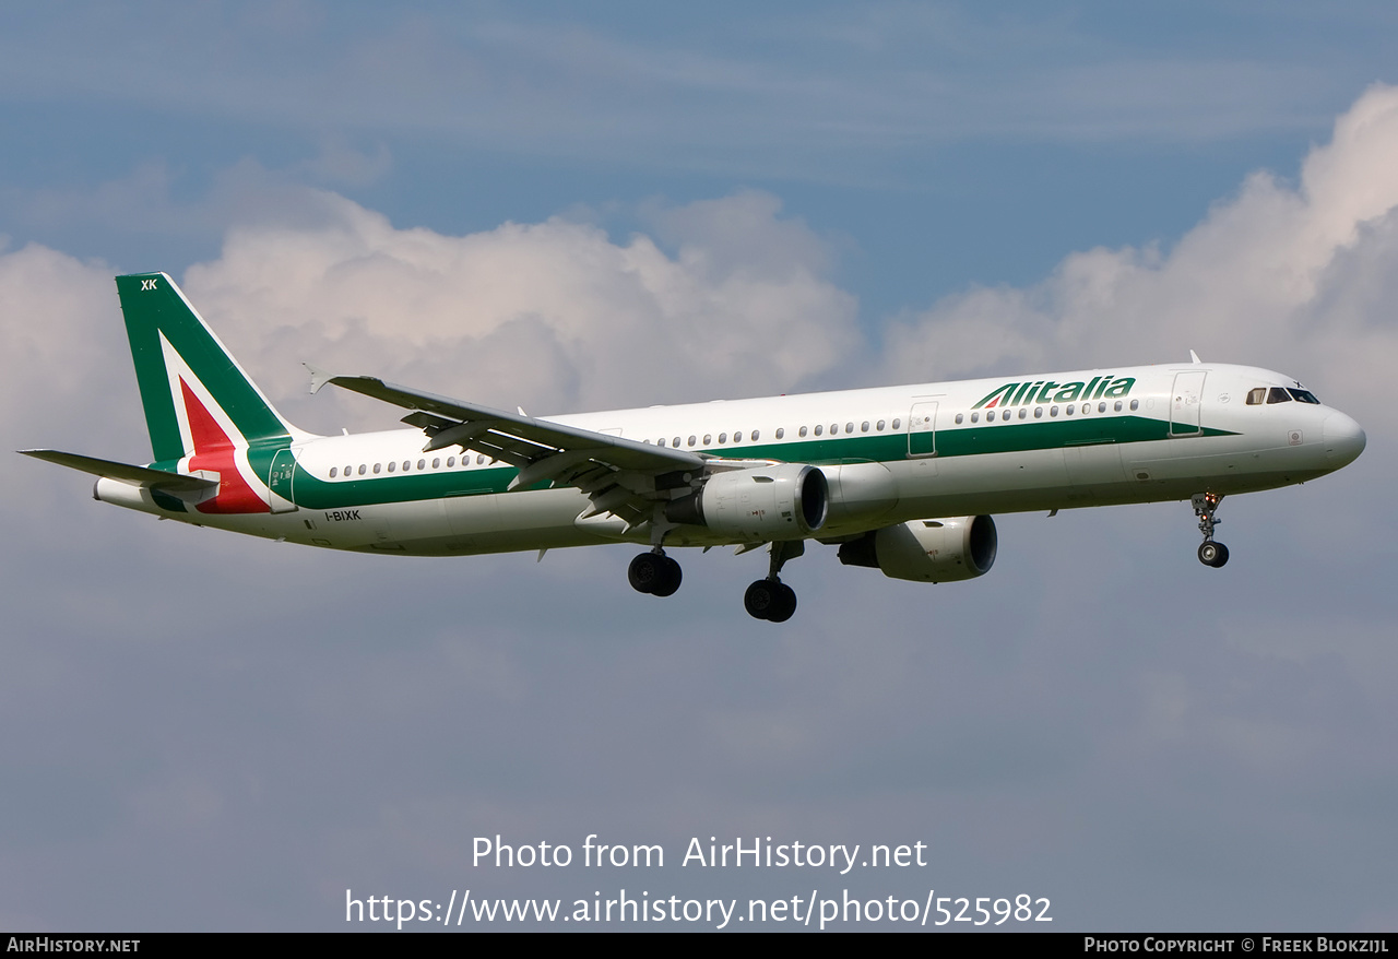
[[[675,256],[559,218],[398,229],[315,196],[316,225],[238,228],[185,277],[277,396],[306,359],[537,412],[706,400],[787,390],[858,344],[823,243],[765,194],[653,211]]]

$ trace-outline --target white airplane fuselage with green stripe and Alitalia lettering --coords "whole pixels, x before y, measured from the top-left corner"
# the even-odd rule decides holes
[[[710,456],[815,464],[830,488],[816,538],[839,540],[924,517],[1271,489],[1359,456],[1363,431],[1338,410],[1247,401],[1272,387],[1300,384],[1264,369],[1181,363],[548,419]],[[459,447],[424,453],[424,443],[418,429],[299,439],[271,513],[172,512],[115,480],[98,481],[96,495],[338,549],[452,555],[646,541],[610,514],[580,519],[589,499],[575,488],[506,491],[513,467]],[[684,526],[665,544],[744,541]]]

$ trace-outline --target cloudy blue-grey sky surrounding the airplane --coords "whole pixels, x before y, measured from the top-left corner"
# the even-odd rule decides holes
[[[148,270],[316,432],[397,412],[308,396],[302,361],[566,412],[1195,349],[1296,376],[1369,446],[1227,499],[1222,570],[1187,503],[1000,516],[967,583],[812,548],[784,626],[742,612],[756,552],[681,554],[657,601],[630,547],[317,552],[11,454],[0,928],[384,928],[347,924],[347,895],[467,889],[1398,927],[1391,4],[6,20],[11,450],[150,457],[112,284]],[[593,835],[664,865],[587,867]],[[682,864],[769,836],[925,865]],[[475,863],[496,837],[575,861]]]

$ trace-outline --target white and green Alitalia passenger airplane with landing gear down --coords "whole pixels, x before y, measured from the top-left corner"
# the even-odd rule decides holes
[[[946,583],[990,572],[993,513],[1190,500],[1220,568],[1223,496],[1352,463],[1364,431],[1297,380],[1187,363],[528,417],[309,366],[408,411],[408,429],[289,424],[164,273],[116,277],[154,461],[20,450],[98,477],[95,499],[331,549],[467,555],[649,547],[640,593],[679,589],[667,548],[769,552],[744,607],[784,622],[783,566],[816,541],[844,565]]]

